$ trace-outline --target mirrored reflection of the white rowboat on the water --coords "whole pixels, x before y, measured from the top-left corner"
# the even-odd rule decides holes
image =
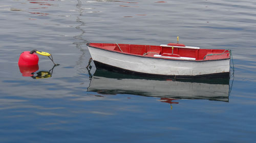
[[[229,78],[150,78],[97,69],[88,91],[100,94],[159,97],[161,102],[177,104],[177,99],[207,99],[228,102],[229,89]]]

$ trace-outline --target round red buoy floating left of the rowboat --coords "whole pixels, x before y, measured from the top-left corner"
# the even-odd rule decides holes
[[[30,51],[24,51],[20,54],[18,59],[19,66],[32,66],[38,64],[38,56]]]

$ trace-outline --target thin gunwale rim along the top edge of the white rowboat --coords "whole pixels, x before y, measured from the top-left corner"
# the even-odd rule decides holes
[[[132,56],[138,56],[141,58],[151,58],[151,59],[159,59],[159,60],[170,60],[170,61],[184,61],[184,62],[209,62],[209,61],[221,61],[221,60],[228,60],[229,58],[225,58],[225,59],[216,59],[216,60],[179,60],[179,59],[167,59],[167,58],[157,58],[157,57],[150,57],[150,56],[142,56],[139,54],[134,54],[134,53],[128,53],[128,52],[121,52],[121,51],[114,51],[114,50],[108,50],[108,49],[103,49],[100,47],[95,47],[90,45],[91,43],[87,43],[87,46],[90,46],[92,48],[97,48],[97,49],[101,49],[101,50],[105,50],[105,51],[109,51],[109,52],[116,52],[116,53],[121,53],[121,54],[125,54],[125,55],[132,55]],[[128,45],[136,45],[136,44],[128,44]]]

